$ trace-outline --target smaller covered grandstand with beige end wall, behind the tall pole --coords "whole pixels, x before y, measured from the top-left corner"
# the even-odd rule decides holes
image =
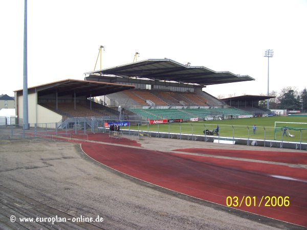
[[[66,79],[28,88],[29,123],[63,123],[73,118],[118,118],[118,111],[94,97],[134,88],[131,85]],[[23,120],[23,90],[14,91],[17,124]]]

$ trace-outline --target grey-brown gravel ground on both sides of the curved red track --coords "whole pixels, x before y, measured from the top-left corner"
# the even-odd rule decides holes
[[[145,148],[160,147],[160,150],[163,142],[164,150],[168,151],[182,148],[177,141],[152,138],[139,142]],[[188,148],[195,143],[186,141],[181,145]],[[206,143],[200,144],[207,148]],[[0,162],[0,190],[4,195],[6,187],[20,197],[53,208],[59,217],[67,214],[103,218],[102,222],[79,229],[300,229],[122,175],[87,157],[79,144],[52,141],[0,144]],[[3,198],[0,203],[3,207],[7,205]],[[21,214],[17,218],[18,215]],[[35,215],[43,217],[46,212],[37,209]],[[7,229],[11,229],[12,223],[7,218],[0,213],[0,228],[8,223]],[[31,228],[26,223],[21,225]]]

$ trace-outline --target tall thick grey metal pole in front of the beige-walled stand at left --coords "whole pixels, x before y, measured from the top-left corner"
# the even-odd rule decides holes
[[[28,40],[27,40],[27,0],[24,15],[24,88],[23,88],[23,126],[29,129],[28,119]]]

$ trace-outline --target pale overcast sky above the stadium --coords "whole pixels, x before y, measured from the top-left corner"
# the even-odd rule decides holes
[[[169,58],[255,81],[207,86],[213,96],[307,87],[307,0],[28,0],[28,86]],[[23,87],[24,1],[0,1],[0,94]],[[99,64],[98,64],[99,68]],[[96,67],[96,70],[98,69]]]

